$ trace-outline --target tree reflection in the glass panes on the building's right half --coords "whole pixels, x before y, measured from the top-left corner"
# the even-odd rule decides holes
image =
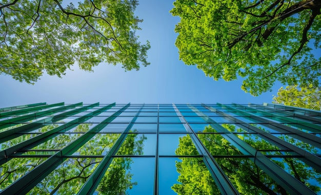
[[[234,125],[223,124],[222,126],[231,132],[235,132]],[[236,129],[236,131],[242,130]],[[211,126],[205,127],[204,133],[209,132],[215,132],[215,129],[213,129]],[[232,146],[219,134],[198,134],[198,137],[213,156],[242,155],[237,148]],[[248,134],[240,134],[238,137],[256,149],[277,149],[277,147],[271,143],[257,137],[252,137]],[[179,147],[176,149],[176,152],[180,151],[180,153],[182,153],[182,150],[188,149],[185,147],[185,145],[190,145],[192,144],[191,142],[191,139],[180,139]],[[184,151],[183,154],[187,152],[188,150]],[[215,158],[215,160],[224,170],[225,174],[240,194],[288,194],[283,187],[278,185],[248,158],[229,157]],[[211,177],[207,167],[202,160],[199,160],[198,163],[195,163],[196,161],[197,159],[183,159],[182,162],[176,162],[177,172],[180,174],[177,181],[182,184],[174,184],[172,189],[178,194],[216,193],[209,190],[213,189],[214,187],[211,187],[213,186],[213,182],[207,179]],[[284,168],[296,179],[307,185],[310,189],[314,190],[315,192],[321,191],[320,187],[318,187],[321,184],[321,175],[308,165],[295,158],[283,158],[281,160],[275,159],[273,162]],[[195,170],[202,171],[203,178],[197,176]],[[314,182],[311,182],[311,180],[314,180]],[[192,186],[193,183],[194,186]],[[193,192],[193,189],[197,189],[199,192]]]

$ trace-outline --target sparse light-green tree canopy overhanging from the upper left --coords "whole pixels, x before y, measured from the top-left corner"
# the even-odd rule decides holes
[[[86,71],[100,62],[125,70],[147,66],[149,42],[135,31],[136,0],[84,1],[63,7],[62,1],[5,0],[0,3],[0,73],[33,83],[44,71],[61,77],[76,62]]]

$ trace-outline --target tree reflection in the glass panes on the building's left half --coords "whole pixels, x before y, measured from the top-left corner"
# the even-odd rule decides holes
[[[80,124],[75,129],[76,132],[87,132],[88,130],[88,124]],[[130,134],[128,137],[130,139],[126,139],[123,143],[126,147],[121,147],[124,153],[133,153],[134,151],[135,154],[142,154],[143,142],[147,138],[143,135],[134,143],[137,134]],[[46,145],[50,148],[54,146],[60,147],[61,144],[67,145],[66,143],[70,143],[73,140],[70,136],[59,140],[55,138],[57,137],[52,138],[52,141],[47,143],[53,145],[44,144],[42,145],[43,149],[46,149]],[[110,150],[118,138],[119,134],[96,134],[94,139],[89,140],[81,149],[77,150],[77,155],[102,155],[106,150]],[[37,147],[37,149],[41,148]],[[46,159],[15,158],[9,160],[0,167],[2,172],[0,175],[0,188],[6,188],[44,160]],[[94,157],[68,158],[62,164],[58,164],[57,168],[28,194],[75,194],[81,189],[101,160],[102,158]],[[136,182],[131,182],[132,174],[125,170],[130,169],[131,163],[132,160],[130,158],[114,158],[97,190],[102,194],[125,194],[127,189],[136,185]]]

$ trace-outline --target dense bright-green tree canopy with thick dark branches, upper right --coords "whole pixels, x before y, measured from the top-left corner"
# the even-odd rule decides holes
[[[320,8],[320,0],[176,0],[170,12],[180,17],[180,59],[214,80],[244,77],[242,89],[257,96],[276,80],[318,86]]]

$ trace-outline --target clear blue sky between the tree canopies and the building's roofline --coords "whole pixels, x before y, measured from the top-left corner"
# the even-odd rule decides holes
[[[76,5],[77,1],[74,1]],[[186,66],[178,59],[174,32],[179,17],[169,11],[171,0],[139,0],[136,15],[144,19],[137,31],[142,44],[151,43],[148,52],[150,66],[125,72],[101,63],[93,73],[67,71],[63,78],[44,74],[34,85],[21,83],[9,75],[0,75],[0,107],[36,102],[65,103],[262,103],[271,102],[272,95],[282,86],[275,84],[273,92],[258,97],[240,89],[242,79],[225,82],[206,77],[195,66]],[[65,2],[64,2],[65,3]]]

